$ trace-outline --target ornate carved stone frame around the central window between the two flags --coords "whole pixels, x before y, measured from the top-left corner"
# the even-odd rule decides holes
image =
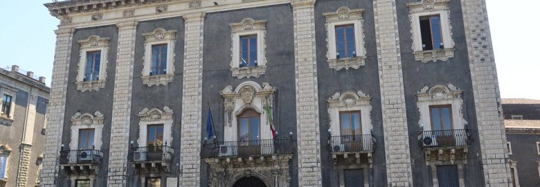
[[[268,114],[264,107],[268,103],[270,109],[273,109],[274,93],[276,93],[276,87],[270,86],[267,82],[262,82],[261,87],[253,81],[242,82],[234,90],[233,86],[228,85],[220,91],[219,94],[224,98],[224,141],[238,141],[237,115],[242,114],[246,109],[253,109],[260,113],[260,139],[272,139]]]

